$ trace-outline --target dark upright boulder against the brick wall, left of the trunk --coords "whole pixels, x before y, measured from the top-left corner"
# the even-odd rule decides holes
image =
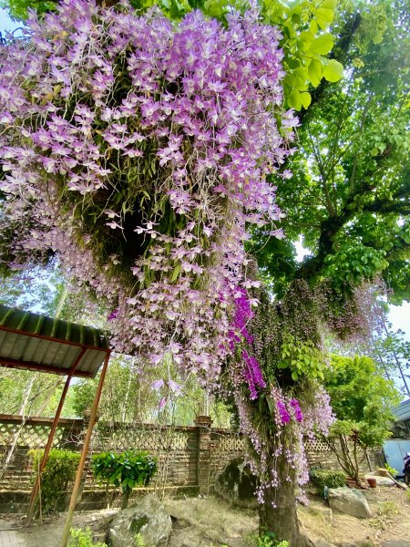
[[[256,476],[242,459],[232,459],[215,481],[214,492],[226,501],[245,508],[256,508]]]

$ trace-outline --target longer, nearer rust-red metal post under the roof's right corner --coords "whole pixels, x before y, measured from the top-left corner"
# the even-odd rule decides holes
[[[99,399],[101,397],[101,391],[102,391],[104,380],[107,373],[108,361],[109,361],[109,353],[107,354],[104,360],[104,366],[102,367],[101,376],[99,377],[96,397],[94,397],[93,407],[91,408],[91,415],[89,417],[87,434],[86,434],[86,438],[84,439],[84,446],[81,452],[81,458],[78,463],[76,480],[74,482],[73,491],[71,493],[70,505],[68,507],[68,512],[67,512],[66,525],[63,532],[63,539],[61,540],[61,547],[67,547],[68,536],[71,529],[71,522],[73,521],[74,510],[76,509],[76,505],[77,505],[78,490],[81,486],[81,479],[83,476],[84,465],[86,463],[87,451],[88,451],[89,443],[91,440],[91,434],[93,432],[94,424],[96,423],[97,408],[98,408]]]

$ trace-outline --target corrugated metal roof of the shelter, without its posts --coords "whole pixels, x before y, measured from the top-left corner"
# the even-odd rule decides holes
[[[109,353],[95,328],[0,305],[0,366],[95,377]]]

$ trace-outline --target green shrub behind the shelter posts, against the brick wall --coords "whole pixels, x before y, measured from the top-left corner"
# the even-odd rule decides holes
[[[32,460],[34,468],[33,481],[36,480],[43,455],[43,449],[28,451],[28,456]],[[60,503],[66,497],[68,483],[72,482],[76,477],[79,459],[79,452],[65,449],[50,450],[46,468],[41,474],[40,481],[41,505],[44,513],[52,513],[59,509]],[[38,506],[39,502],[37,498],[37,510]]]

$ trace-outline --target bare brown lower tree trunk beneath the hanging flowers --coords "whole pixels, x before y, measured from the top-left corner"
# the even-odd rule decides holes
[[[290,469],[283,455],[280,455],[276,461],[270,461],[269,464],[269,471],[277,471],[280,486],[264,490],[265,502],[259,508],[260,536],[271,532],[275,534],[275,540],[286,540],[290,547],[304,547],[308,542],[299,529],[294,470]],[[286,480],[289,478],[291,480]]]

